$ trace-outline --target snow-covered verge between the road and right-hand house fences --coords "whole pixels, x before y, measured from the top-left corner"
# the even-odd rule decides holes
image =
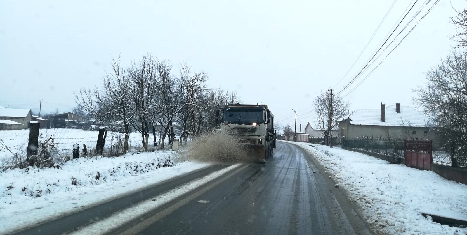
[[[340,188],[357,201],[369,224],[387,234],[467,234],[467,228],[425,218],[430,211],[467,218],[467,186],[432,171],[389,164],[366,154],[310,143],[297,144],[329,169]],[[311,145],[313,147],[311,147]]]

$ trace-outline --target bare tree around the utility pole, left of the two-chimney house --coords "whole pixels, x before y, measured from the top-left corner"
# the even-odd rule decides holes
[[[316,96],[313,101],[317,114],[316,125],[323,130],[323,136],[331,135],[333,128],[338,126],[337,121],[349,114],[349,105],[339,94],[333,94],[332,103],[326,91]]]

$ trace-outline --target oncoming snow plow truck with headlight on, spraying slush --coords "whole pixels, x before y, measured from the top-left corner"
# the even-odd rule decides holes
[[[264,163],[276,148],[274,115],[264,104],[227,104],[216,112],[220,134],[230,135],[252,161]]]

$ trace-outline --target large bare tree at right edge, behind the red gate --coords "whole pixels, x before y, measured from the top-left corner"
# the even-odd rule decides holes
[[[467,53],[453,51],[427,74],[426,87],[417,87],[415,103],[433,117],[453,159],[467,166]]]

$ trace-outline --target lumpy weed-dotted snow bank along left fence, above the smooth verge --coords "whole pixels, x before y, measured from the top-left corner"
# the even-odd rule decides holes
[[[42,197],[76,188],[118,181],[124,177],[141,175],[161,167],[171,167],[178,154],[157,151],[145,154],[126,154],[120,157],[77,158],[61,168],[14,168],[0,172],[0,208],[3,203],[15,203],[19,197]],[[176,163],[176,162],[175,162]]]

